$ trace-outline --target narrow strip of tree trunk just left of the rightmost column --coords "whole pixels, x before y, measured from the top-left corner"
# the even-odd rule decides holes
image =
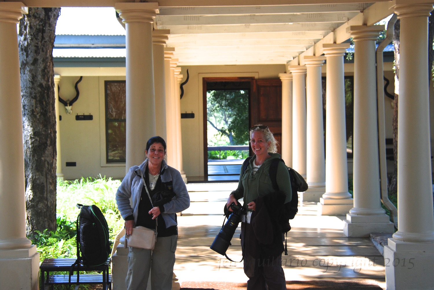
[[[393,100],[393,117],[392,117],[392,132],[393,132],[393,163],[394,169],[391,180],[389,182],[389,196],[398,196],[398,98],[399,98],[399,35],[400,23],[398,19],[395,23],[395,31],[393,33],[393,45],[395,46],[395,99]]]

